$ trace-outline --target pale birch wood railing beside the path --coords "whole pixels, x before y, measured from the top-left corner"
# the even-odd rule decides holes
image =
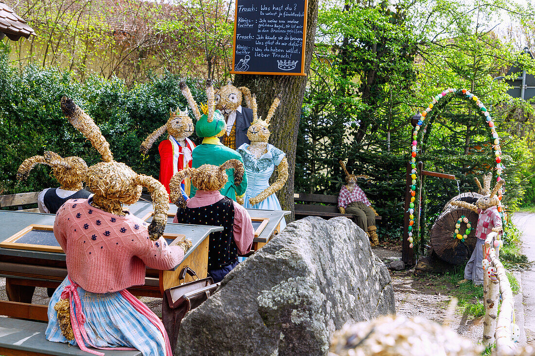
[[[495,244],[495,242],[498,243]],[[500,249],[495,246],[500,246],[500,235],[492,232],[487,235],[483,245],[483,256],[489,260],[488,267],[483,274],[483,304],[485,306],[483,344],[487,346],[494,339],[496,350],[493,354],[506,356],[515,354],[515,343],[511,339],[514,300],[509,278],[499,259]],[[500,314],[498,314],[500,293],[502,301]]]

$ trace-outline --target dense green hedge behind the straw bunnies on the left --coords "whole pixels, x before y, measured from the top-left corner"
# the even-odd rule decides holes
[[[141,142],[169,118],[169,109],[187,105],[179,89],[180,78],[165,74],[145,83],[127,87],[123,80],[73,79],[68,72],[53,68],[26,67],[22,72],[11,68],[0,55],[0,194],[39,191],[57,187],[50,168],[34,168],[27,181],[18,182],[16,173],[24,159],[42,155],[45,150],[62,157],[79,156],[88,165],[100,161],[100,155],[86,142],[62,114],[62,96],[70,96],[95,120],[108,140],[114,159],[131,166],[137,173],[158,177],[158,143],[143,160]],[[187,79],[197,102],[206,96],[197,80]],[[198,142],[198,137],[192,136]]]

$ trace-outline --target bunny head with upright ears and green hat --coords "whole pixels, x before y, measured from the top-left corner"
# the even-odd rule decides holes
[[[206,105],[201,105],[203,115],[198,109],[198,105],[193,99],[192,92],[186,86],[184,81],[180,82],[180,90],[182,95],[188,100],[188,105],[193,111],[193,115],[197,120],[195,125],[195,133],[199,137],[220,137],[225,134],[226,122],[223,114],[219,110],[215,110],[215,95],[213,92],[213,83],[211,79],[207,79],[205,82],[206,95],[208,102]]]

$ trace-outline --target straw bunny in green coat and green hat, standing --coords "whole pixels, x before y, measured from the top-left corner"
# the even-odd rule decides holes
[[[201,116],[191,91],[186,86],[185,82],[180,82],[182,95],[188,100],[189,107],[192,109],[195,118],[197,119],[195,133],[197,136],[203,137],[202,143],[193,150],[192,168],[198,168],[204,164],[219,166],[230,159],[237,159],[242,162],[242,158],[238,152],[228,148],[219,141],[218,137],[225,135],[225,119],[219,110],[214,109],[215,95],[213,92],[212,81],[207,79],[205,86],[208,103],[207,105],[202,105],[203,115]],[[241,197],[243,197],[247,189],[247,175],[243,175],[243,179],[238,185],[234,183],[234,172],[232,171],[232,168],[229,169],[227,175],[228,181],[224,187],[221,188],[221,194],[243,204],[243,199]],[[191,184],[190,197],[195,195],[196,189],[195,185]]]

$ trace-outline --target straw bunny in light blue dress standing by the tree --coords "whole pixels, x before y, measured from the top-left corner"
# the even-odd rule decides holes
[[[273,104],[264,120],[258,118],[256,97],[251,99],[253,109],[253,123],[247,130],[250,144],[244,143],[238,149],[243,158],[243,165],[248,177],[247,191],[243,206],[263,210],[282,210],[275,193],[284,187],[288,180],[288,161],[286,154],[268,143],[271,135],[268,126],[277,107],[280,95],[273,100]],[[277,167],[277,180],[269,184],[269,179]],[[286,221],[281,221],[280,229],[286,227]]]

